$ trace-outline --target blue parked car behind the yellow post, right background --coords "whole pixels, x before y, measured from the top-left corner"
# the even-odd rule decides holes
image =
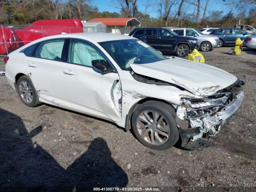
[[[217,47],[236,44],[236,38],[239,37],[241,40],[246,40],[249,36],[248,32],[238,28],[221,28],[211,32],[211,35],[217,35],[219,37],[220,43]]]

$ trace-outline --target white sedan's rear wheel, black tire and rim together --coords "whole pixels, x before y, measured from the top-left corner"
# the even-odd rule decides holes
[[[17,81],[17,90],[20,100],[28,107],[36,107],[41,104],[32,81],[28,76],[21,76]]]

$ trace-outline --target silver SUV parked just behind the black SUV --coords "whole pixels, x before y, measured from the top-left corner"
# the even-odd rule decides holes
[[[201,51],[213,50],[219,43],[218,36],[204,35],[195,28],[171,28],[170,30],[180,36],[191,36],[198,39]]]

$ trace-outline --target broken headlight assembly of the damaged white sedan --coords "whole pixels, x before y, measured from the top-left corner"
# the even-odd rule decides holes
[[[196,119],[210,116],[228,103],[229,97],[218,98],[181,98],[180,109],[184,109],[183,119]]]

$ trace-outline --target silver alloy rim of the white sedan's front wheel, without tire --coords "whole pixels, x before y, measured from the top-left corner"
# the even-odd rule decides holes
[[[141,112],[136,124],[140,136],[150,144],[162,145],[170,137],[170,125],[166,118],[157,111]]]

